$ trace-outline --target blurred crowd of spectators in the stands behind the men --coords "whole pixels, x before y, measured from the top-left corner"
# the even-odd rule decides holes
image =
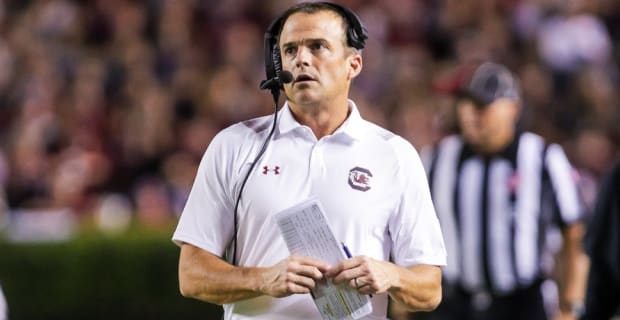
[[[0,228],[168,226],[214,134],[273,111],[263,34],[294,2],[0,0]],[[365,118],[422,149],[454,130],[460,67],[504,63],[521,126],[566,148],[593,201],[620,149],[618,1],[339,3],[370,34]]]

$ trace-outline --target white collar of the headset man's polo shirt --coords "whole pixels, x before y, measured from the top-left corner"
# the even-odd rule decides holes
[[[332,136],[346,136],[354,140],[359,140],[362,135],[362,116],[355,105],[355,102],[349,100],[349,116],[342,123],[338,129],[332,134]],[[300,124],[293,117],[293,113],[288,105],[288,102],[284,104],[282,109],[278,112],[278,134],[286,135],[295,130],[300,130],[304,125]]]

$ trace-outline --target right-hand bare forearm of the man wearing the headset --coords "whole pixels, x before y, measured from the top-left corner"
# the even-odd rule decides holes
[[[396,266],[398,283],[390,296],[410,311],[431,311],[441,302],[441,269],[431,265]]]

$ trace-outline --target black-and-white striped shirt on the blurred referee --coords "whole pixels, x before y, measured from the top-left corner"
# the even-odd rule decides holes
[[[546,230],[581,219],[564,151],[533,133],[492,156],[453,135],[424,160],[448,252],[444,277],[469,292],[532,285],[543,276]]]

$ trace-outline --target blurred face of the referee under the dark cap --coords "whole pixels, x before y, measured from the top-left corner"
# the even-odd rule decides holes
[[[463,139],[483,152],[497,152],[514,137],[518,105],[509,99],[498,99],[486,106],[477,106],[462,99],[456,106]]]

